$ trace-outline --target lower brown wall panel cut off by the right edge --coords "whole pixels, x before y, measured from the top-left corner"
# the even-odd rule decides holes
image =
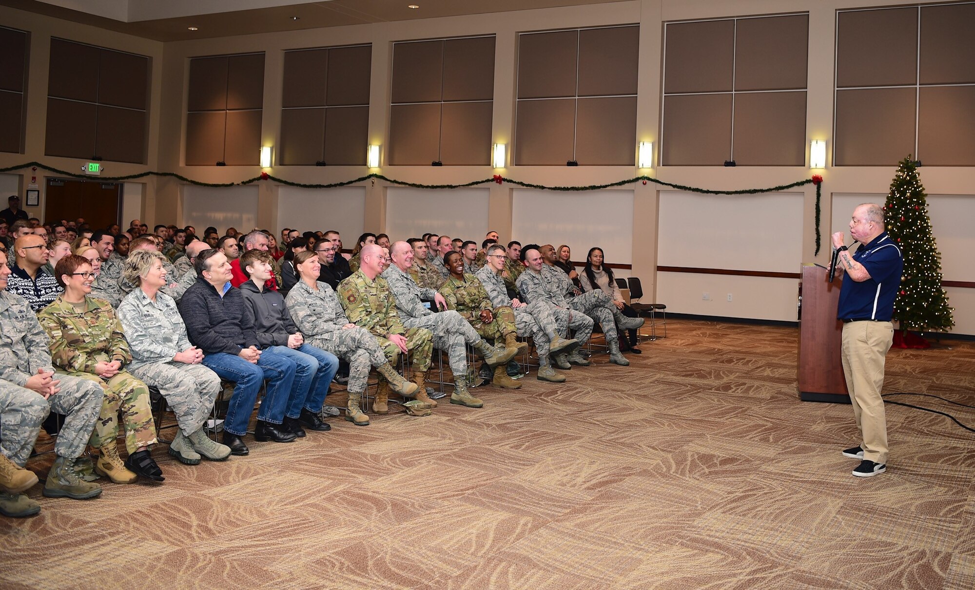
[[[920,89],[917,158],[927,166],[975,166],[975,86]]]

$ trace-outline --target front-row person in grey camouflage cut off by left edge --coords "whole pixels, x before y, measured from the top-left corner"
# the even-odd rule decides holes
[[[11,269],[0,253],[0,514],[20,518],[37,514],[41,505],[23,492],[37,483],[24,468],[41,423],[52,411],[64,416],[48,471],[44,496],[87,499],[101,494],[98,484],[75,473],[75,462],[98,420],[104,394],[95,382],[56,376],[48,335],[23,298],[4,290]]]

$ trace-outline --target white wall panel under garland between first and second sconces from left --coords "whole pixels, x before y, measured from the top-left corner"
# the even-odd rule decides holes
[[[302,189],[283,186],[278,190],[279,230],[299,232],[335,230],[344,243],[351,244],[365,230],[366,188]],[[351,247],[351,246],[349,246]]]

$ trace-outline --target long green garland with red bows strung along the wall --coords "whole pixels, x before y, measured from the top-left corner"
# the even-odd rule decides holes
[[[540,189],[545,191],[598,191],[601,189],[608,189],[616,186],[623,186],[625,184],[632,184],[634,182],[652,182],[654,184],[659,184],[661,186],[667,186],[680,191],[687,191],[690,193],[701,193],[704,195],[758,195],[760,193],[774,193],[777,191],[784,191],[786,189],[792,189],[799,186],[809,184],[810,182],[816,185],[816,254],[819,254],[820,248],[820,233],[819,233],[819,222],[820,222],[820,199],[821,199],[821,186],[823,183],[823,177],[816,174],[812,178],[805,178],[803,180],[798,180],[790,184],[782,184],[779,186],[768,187],[764,189],[740,189],[737,191],[715,191],[711,189],[699,189],[697,187],[685,186],[683,184],[674,184],[673,182],[665,182],[652,176],[634,176],[633,178],[628,178],[626,180],[618,180],[616,182],[610,182],[607,184],[590,184],[586,186],[547,186],[544,184],[534,184],[532,182],[522,182],[521,180],[515,180],[513,178],[505,178],[500,174],[494,174],[491,178],[485,178],[484,180],[472,180],[471,182],[465,182],[463,184],[420,184],[417,182],[406,182],[403,180],[397,180],[395,178],[389,178],[382,174],[370,173],[365,176],[360,176],[353,180],[346,180],[344,182],[332,182],[329,184],[306,184],[302,182],[292,182],[291,180],[285,180],[284,178],[279,178],[267,172],[261,172],[260,175],[254,176],[254,178],[248,178],[247,180],[242,180],[240,182],[200,182],[198,180],[193,180],[192,178],[187,178],[181,174],[176,174],[176,172],[139,172],[138,174],[129,174],[128,176],[89,176],[87,174],[78,174],[76,172],[68,172],[67,170],[60,170],[56,167],[45,166],[40,162],[28,162],[20,166],[8,166],[5,168],[0,168],[0,173],[9,172],[12,170],[20,170],[23,168],[36,166],[43,170],[49,172],[54,172],[61,176],[68,176],[71,178],[85,178],[89,180],[100,180],[104,182],[121,182],[125,180],[136,180],[137,178],[145,178],[146,176],[162,176],[169,178],[176,178],[182,182],[186,182],[195,186],[208,186],[208,187],[228,187],[228,186],[238,186],[238,185],[248,185],[258,180],[272,180],[279,184],[284,184],[287,186],[300,187],[303,189],[333,189],[341,186],[348,186],[350,184],[358,184],[360,182],[365,182],[367,180],[384,180],[390,184],[395,184],[398,186],[407,186],[414,189],[461,189],[465,187],[477,186],[480,184],[487,184],[488,182],[496,182],[501,184],[502,182],[507,182],[509,184],[514,184],[516,186],[524,187],[526,189]]]

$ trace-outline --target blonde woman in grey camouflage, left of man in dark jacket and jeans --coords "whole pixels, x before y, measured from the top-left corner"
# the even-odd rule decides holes
[[[220,392],[220,378],[200,364],[203,351],[189,344],[176,302],[160,291],[167,284],[165,257],[137,250],[126,260],[123,276],[136,285],[118,308],[132,352],[129,371],[157,387],[176,415],[170,455],[187,465],[205,457],[223,461],[230,449],[211,440],[204,428]]]

